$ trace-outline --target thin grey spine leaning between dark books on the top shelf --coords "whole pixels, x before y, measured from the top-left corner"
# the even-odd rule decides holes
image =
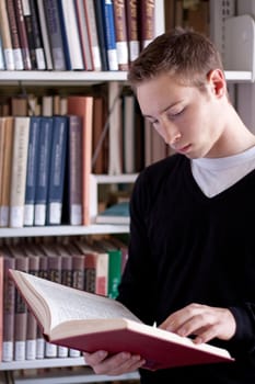
[[[35,0],[32,0],[32,1],[35,1]],[[50,69],[54,69],[54,65],[53,65],[53,56],[50,52],[50,43],[49,43],[49,35],[48,35],[45,10],[44,10],[44,2],[42,0],[37,0],[36,5],[38,11],[38,22],[39,22],[39,29],[42,33],[42,41],[43,41],[44,53],[45,53],[46,69],[50,70]]]

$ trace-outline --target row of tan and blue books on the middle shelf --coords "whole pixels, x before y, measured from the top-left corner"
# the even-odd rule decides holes
[[[79,101],[65,116],[0,120],[2,227],[90,224],[93,98]]]

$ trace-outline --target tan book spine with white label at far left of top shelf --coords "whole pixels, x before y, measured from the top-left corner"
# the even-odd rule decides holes
[[[7,70],[15,69],[14,54],[12,47],[11,29],[8,19],[5,1],[0,1],[0,30],[2,36],[3,56]]]

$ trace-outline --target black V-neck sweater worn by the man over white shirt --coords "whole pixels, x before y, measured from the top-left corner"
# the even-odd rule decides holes
[[[144,169],[130,203],[128,263],[118,300],[147,324],[190,303],[229,307],[236,334],[212,340],[234,363],[154,373],[141,383],[255,383],[255,171],[213,197],[174,155]]]

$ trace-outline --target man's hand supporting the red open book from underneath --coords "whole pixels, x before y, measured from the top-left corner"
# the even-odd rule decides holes
[[[106,351],[94,353],[83,353],[85,363],[90,365],[96,374],[120,375],[134,372],[141,368],[146,361],[137,354],[121,352],[108,357]]]

